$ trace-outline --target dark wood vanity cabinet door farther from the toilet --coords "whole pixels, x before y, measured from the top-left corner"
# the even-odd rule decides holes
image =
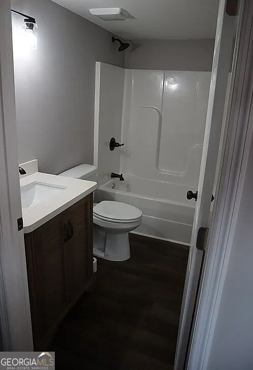
[[[34,295],[35,288],[36,316],[39,321],[40,335],[44,335],[67,305],[64,286],[62,215],[54,217],[29,235],[35,283],[34,287],[29,287],[30,295]]]

